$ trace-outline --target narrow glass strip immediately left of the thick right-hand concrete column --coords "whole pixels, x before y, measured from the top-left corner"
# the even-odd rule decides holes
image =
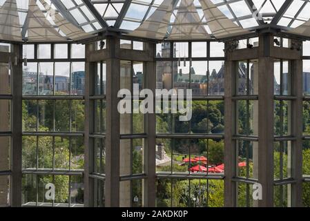
[[[258,180],[258,60],[239,61],[235,70],[236,206],[255,206],[252,183]]]

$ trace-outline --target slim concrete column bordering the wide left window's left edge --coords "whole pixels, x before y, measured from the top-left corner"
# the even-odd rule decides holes
[[[13,53],[17,57],[17,65],[12,64],[12,189],[11,206],[21,206],[21,122],[22,122],[22,46],[14,45]]]

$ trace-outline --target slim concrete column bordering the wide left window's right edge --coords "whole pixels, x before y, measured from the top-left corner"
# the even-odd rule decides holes
[[[86,45],[86,57],[90,52],[95,50],[95,44]],[[89,177],[90,173],[94,171],[94,151],[93,151],[93,140],[90,139],[89,135],[94,131],[94,101],[90,99],[93,95],[95,87],[95,66],[96,63],[86,61],[85,64],[85,126],[84,126],[84,206],[94,206],[94,182]]]

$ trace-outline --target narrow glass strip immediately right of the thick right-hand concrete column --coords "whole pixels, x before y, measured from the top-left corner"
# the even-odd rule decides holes
[[[274,151],[273,188],[274,206],[291,206],[291,184],[281,184],[292,177],[292,81],[291,61],[274,61]]]

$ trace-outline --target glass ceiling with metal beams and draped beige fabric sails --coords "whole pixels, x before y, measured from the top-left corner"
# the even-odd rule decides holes
[[[79,40],[110,27],[154,39],[220,39],[268,24],[303,35],[309,12],[309,0],[0,0],[0,37]]]

